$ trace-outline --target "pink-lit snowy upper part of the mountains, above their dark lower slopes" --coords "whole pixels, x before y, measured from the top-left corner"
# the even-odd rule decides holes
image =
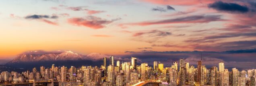
[[[89,55],[81,55],[74,53],[72,51],[28,51],[18,55],[10,63],[19,63],[19,62],[36,62],[36,61],[77,61],[77,60],[91,60],[98,61],[103,57],[108,57],[100,53],[91,53]]]

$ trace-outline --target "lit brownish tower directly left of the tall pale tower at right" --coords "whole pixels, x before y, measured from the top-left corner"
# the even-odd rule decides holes
[[[211,86],[217,86],[217,67],[216,66],[213,66],[211,68],[211,72],[210,72],[210,83],[211,83]]]

